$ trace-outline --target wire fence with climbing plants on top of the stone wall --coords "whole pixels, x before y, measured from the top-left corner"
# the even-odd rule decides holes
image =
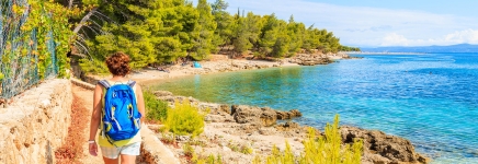
[[[14,10],[22,10],[15,12]],[[9,99],[41,82],[44,77],[55,78],[58,74],[56,61],[56,43],[53,31],[46,32],[46,40],[38,45],[38,27],[24,32],[22,26],[29,21],[30,5],[27,0],[1,0],[0,2],[0,99]],[[47,12],[43,12],[49,16]],[[37,19],[37,17],[32,17]],[[50,26],[49,24],[42,24]],[[49,59],[38,59],[38,48],[46,47]],[[41,62],[38,62],[42,60]],[[39,71],[39,68],[44,71]]]

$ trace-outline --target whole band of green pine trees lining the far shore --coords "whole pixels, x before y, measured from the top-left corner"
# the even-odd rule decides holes
[[[87,30],[92,38],[88,40],[92,60],[103,61],[107,55],[121,50],[130,55],[135,69],[178,61],[187,55],[203,60],[225,47],[234,56],[252,51],[258,57],[274,58],[292,57],[300,49],[338,52],[344,48],[333,33],[314,26],[306,28],[293,16],[286,22],[275,14],[244,15],[239,11],[230,14],[224,0],[213,3],[197,0],[196,7],[184,0],[83,0],[83,4],[98,7],[99,12],[111,19],[105,22],[92,17],[100,22],[102,33]]]

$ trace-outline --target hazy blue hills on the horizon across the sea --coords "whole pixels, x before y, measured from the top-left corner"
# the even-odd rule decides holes
[[[478,52],[478,45],[459,44],[452,46],[420,47],[360,47],[363,52]]]

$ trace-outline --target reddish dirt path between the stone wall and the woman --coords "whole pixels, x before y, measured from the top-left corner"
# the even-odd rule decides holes
[[[93,91],[90,90],[86,90],[83,87],[77,86],[77,85],[72,85],[72,92],[73,95],[77,97],[73,101],[79,101],[81,103],[79,103],[79,107],[78,109],[83,109],[87,110],[87,115],[83,116],[82,119],[84,119],[86,121],[82,121],[83,124],[87,124],[87,128],[84,128],[83,130],[83,138],[86,140],[88,140],[89,136],[90,136],[90,117],[91,117],[91,110],[93,108]],[[88,143],[87,141],[83,142],[83,154],[79,155],[79,162],[80,163],[84,163],[84,164],[101,164],[103,163],[102,160],[102,154],[101,151],[99,151],[98,156],[91,156],[90,153],[88,152]]]

